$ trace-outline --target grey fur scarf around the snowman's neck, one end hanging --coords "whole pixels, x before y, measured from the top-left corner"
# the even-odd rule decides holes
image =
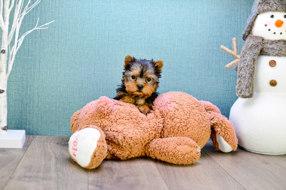
[[[265,40],[249,35],[242,47],[237,67],[236,95],[250,98],[254,92],[255,65],[258,55],[286,56],[286,40]]]

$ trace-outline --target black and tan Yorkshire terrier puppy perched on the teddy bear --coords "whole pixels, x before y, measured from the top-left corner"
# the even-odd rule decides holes
[[[141,113],[150,113],[153,101],[158,96],[156,90],[161,77],[163,61],[154,62],[125,57],[122,84],[116,89],[114,100],[135,104]]]

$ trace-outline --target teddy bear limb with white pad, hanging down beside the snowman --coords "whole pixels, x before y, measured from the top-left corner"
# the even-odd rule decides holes
[[[205,101],[200,101],[200,103],[205,108],[205,111],[207,111],[207,116],[210,120],[210,138],[214,147],[222,152],[235,151],[238,140],[232,123],[220,113],[217,106]]]

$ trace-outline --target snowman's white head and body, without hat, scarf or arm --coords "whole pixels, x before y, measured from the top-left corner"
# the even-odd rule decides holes
[[[251,35],[286,40],[286,13],[257,15]],[[239,97],[230,111],[238,144],[251,152],[286,154],[286,57],[259,55],[254,73],[253,97]]]

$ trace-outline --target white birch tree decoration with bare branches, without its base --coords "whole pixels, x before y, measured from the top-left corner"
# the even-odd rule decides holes
[[[4,5],[3,5],[3,1],[4,1]],[[0,56],[0,135],[7,134],[7,92],[6,92],[7,80],[12,70],[15,55],[17,51],[19,50],[20,46],[22,45],[22,42],[26,35],[28,35],[34,30],[47,29],[47,28],[42,28],[42,27],[51,23],[51,22],[48,22],[42,26],[38,26],[38,22],[39,22],[39,18],[38,18],[36,26],[32,30],[25,32],[18,39],[19,29],[22,24],[22,20],[24,16],[27,13],[29,13],[41,1],[37,0],[33,5],[29,6],[30,4],[30,0],[29,0],[25,8],[23,8],[23,0],[19,0],[19,2],[17,1],[18,3],[16,2],[13,24],[9,32],[8,31],[9,15],[14,6],[14,1],[15,0],[12,0],[11,5],[10,5],[10,0],[0,0],[0,27],[2,29],[2,43],[1,43],[1,53],[0,53],[1,54]],[[10,43],[12,41],[14,34],[15,34],[14,45],[11,48]],[[8,52],[8,46],[9,46],[9,52]],[[8,53],[9,53],[9,59],[7,55]],[[8,71],[7,71],[7,61],[8,61]]]

